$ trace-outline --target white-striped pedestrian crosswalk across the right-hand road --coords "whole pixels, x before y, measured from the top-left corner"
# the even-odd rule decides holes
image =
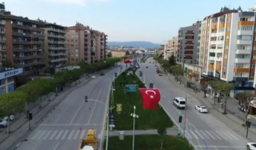
[[[240,140],[232,132],[224,130],[186,130],[185,136],[189,139],[204,140]]]

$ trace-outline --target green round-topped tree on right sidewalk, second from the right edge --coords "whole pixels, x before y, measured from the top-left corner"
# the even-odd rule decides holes
[[[223,92],[224,93],[224,112],[223,114],[227,114],[227,101],[228,101],[228,95],[230,94],[231,90],[234,90],[235,88],[235,84],[234,83],[230,83],[230,82],[225,82],[225,81],[219,81],[216,84],[216,88],[218,91]]]

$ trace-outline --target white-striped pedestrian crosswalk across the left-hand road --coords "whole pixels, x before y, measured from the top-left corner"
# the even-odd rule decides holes
[[[30,140],[78,140],[86,137],[86,130],[37,130]]]

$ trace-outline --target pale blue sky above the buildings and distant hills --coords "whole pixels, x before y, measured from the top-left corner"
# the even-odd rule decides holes
[[[190,26],[221,7],[252,8],[253,0],[5,0],[16,16],[47,20],[63,26],[76,21],[108,34],[108,41],[148,41],[164,44],[178,29]],[[186,4],[186,5],[185,5]]]

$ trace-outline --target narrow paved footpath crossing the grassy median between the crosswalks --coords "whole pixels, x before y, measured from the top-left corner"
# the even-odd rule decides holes
[[[108,136],[118,136],[119,131],[124,131],[125,136],[133,135],[133,130],[114,130],[114,131],[109,131]],[[167,131],[166,135],[177,136],[178,134],[178,130],[176,129],[167,129],[166,131]],[[143,135],[143,134],[158,134],[158,133],[157,133],[157,130],[152,129],[152,130],[135,130],[134,134]]]

